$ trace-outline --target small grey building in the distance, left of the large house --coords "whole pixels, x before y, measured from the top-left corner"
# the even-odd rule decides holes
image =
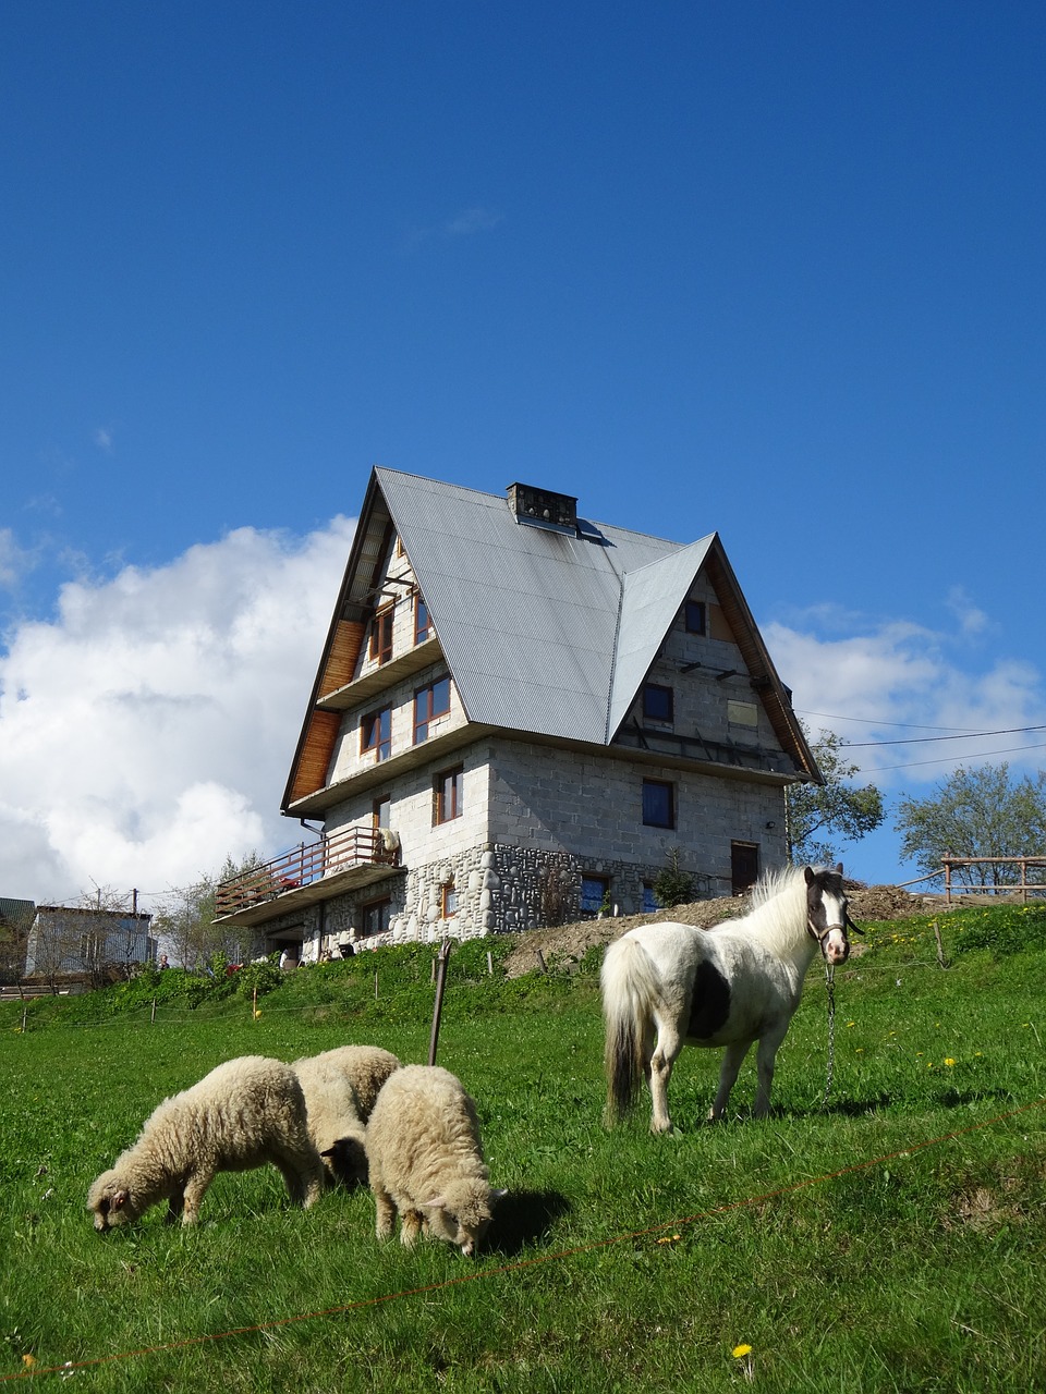
[[[79,905],[38,905],[25,948],[25,977],[100,986],[156,956],[152,916]]]

